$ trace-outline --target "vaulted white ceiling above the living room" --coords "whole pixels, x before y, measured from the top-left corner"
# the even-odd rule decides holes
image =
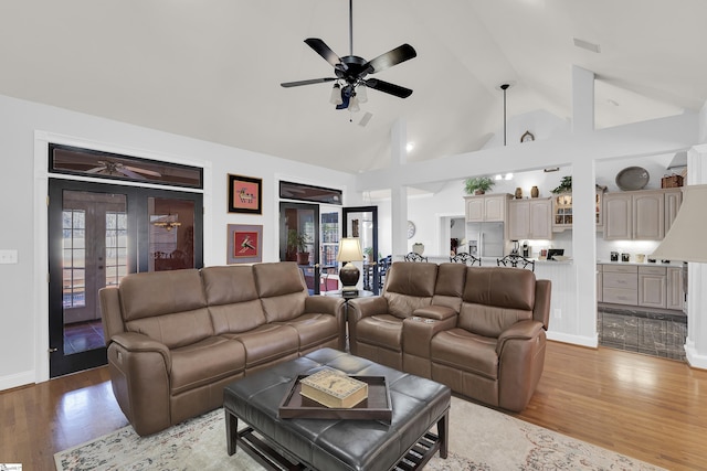
[[[0,94],[358,172],[479,149],[508,117],[571,116],[571,67],[597,74],[597,127],[698,110],[707,99],[704,0],[354,0],[354,54],[418,57],[376,77],[361,111],[335,110],[304,40],[349,54],[347,0],[8,0]],[[574,39],[599,45],[590,52]],[[365,113],[372,114],[359,126]]]

